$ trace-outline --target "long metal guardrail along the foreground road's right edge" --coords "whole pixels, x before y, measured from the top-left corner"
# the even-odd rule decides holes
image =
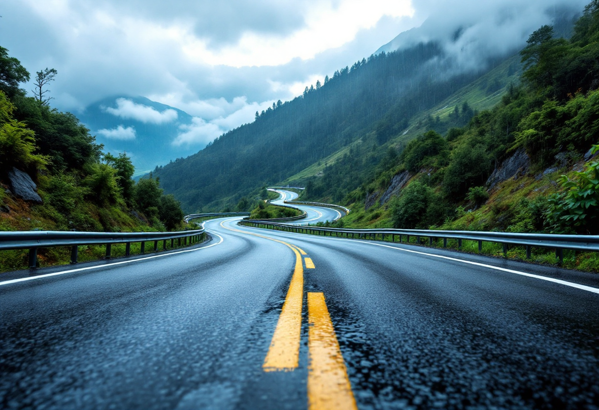
[[[564,249],[583,252],[599,252],[599,236],[586,235],[553,235],[553,234],[528,234],[528,233],[508,233],[508,232],[480,232],[480,231],[435,231],[435,230],[418,230],[418,229],[347,229],[347,228],[322,228],[311,226],[298,226],[279,224],[269,221],[249,221],[240,222],[243,225],[254,227],[273,227],[279,230],[291,231],[295,233],[308,234],[323,234],[326,236],[341,236],[354,238],[358,235],[359,238],[376,239],[377,235],[385,240],[385,236],[391,236],[392,242],[395,242],[395,236],[399,236],[400,243],[403,236],[406,236],[407,242],[410,241],[410,236],[416,236],[416,242],[420,243],[420,237],[428,237],[429,245],[435,239],[443,239],[443,247],[447,247],[447,239],[457,239],[458,248],[462,246],[462,240],[474,240],[479,243],[479,252],[482,251],[483,242],[494,242],[503,244],[503,253],[507,254],[509,245],[526,246],[527,259],[531,257],[531,248],[548,248],[555,249],[555,255],[560,262],[564,260]],[[345,235],[345,236],[344,236]],[[351,235],[351,236],[350,236]]]

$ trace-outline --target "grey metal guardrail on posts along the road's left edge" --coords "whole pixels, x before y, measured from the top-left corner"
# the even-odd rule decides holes
[[[125,243],[125,256],[131,255],[131,243],[141,242],[141,253],[145,252],[145,243],[154,241],[154,251],[158,251],[158,242],[162,240],[162,249],[167,249],[167,240],[171,248],[175,239],[184,240],[184,245],[199,242],[204,237],[204,228],[177,232],[72,232],[72,231],[18,231],[0,232],[0,251],[11,249],[29,249],[29,268],[37,267],[38,248],[71,246],[71,263],[77,263],[78,247],[83,245],[106,245],[106,258],[111,257],[114,243]]]

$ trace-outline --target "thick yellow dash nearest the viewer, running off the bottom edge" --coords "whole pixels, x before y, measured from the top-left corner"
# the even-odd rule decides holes
[[[323,293],[308,292],[308,408],[358,409]]]

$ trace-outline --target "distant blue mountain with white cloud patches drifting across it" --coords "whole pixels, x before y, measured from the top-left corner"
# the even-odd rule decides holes
[[[192,127],[192,116],[145,97],[104,98],[87,107],[80,119],[106,152],[126,152],[136,175],[204,147],[177,139]]]

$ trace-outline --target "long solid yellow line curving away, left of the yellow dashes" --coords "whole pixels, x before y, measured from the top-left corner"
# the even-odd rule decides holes
[[[295,254],[294,275],[289,284],[289,290],[283,303],[283,309],[279,315],[277,327],[274,329],[273,339],[270,342],[270,348],[262,364],[265,372],[289,371],[298,367],[299,362],[299,342],[301,339],[301,310],[304,296],[304,267],[301,263],[301,255],[296,247],[282,240],[269,238],[267,236],[255,233],[244,232],[241,230],[220,226],[229,231],[240,232],[243,234],[259,236],[264,239],[274,240],[289,246]],[[299,248],[298,248],[299,249]]]

